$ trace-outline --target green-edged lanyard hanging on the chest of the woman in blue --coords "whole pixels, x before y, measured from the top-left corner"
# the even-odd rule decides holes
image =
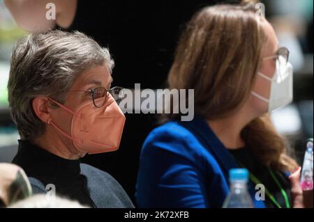
[[[240,164],[240,166],[244,167],[243,164]],[[275,176],[274,172],[271,171],[270,168],[267,168],[269,171],[269,174],[271,175],[271,177],[273,178],[274,182],[276,183],[276,185],[278,186],[278,188],[281,190],[281,194],[283,195],[283,198],[285,200],[285,207],[290,208],[290,203],[289,203],[289,198],[287,197],[287,193],[285,192],[285,189],[283,189],[283,187],[281,186],[280,182],[278,181],[277,177]],[[262,182],[260,180],[258,180],[257,177],[255,177],[255,175],[253,175],[253,173],[251,173],[250,171],[248,171],[250,173],[250,180],[256,185],[256,184],[262,184]],[[274,205],[276,205],[276,207],[278,208],[283,208],[281,207],[281,205],[278,203],[278,201],[276,200],[276,198],[274,197],[274,195],[271,194],[271,192],[269,192],[269,190],[265,187],[265,193],[266,195],[269,197],[269,199],[271,200],[271,202],[274,203]]]

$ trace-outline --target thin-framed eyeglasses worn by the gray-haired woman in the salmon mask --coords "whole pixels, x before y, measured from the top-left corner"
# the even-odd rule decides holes
[[[69,92],[90,93],[91,97],[93,98],[94,106],[100,108],[103,107],[103,105],[105,105],[105,102],[107,101],[107,93],[110,93],[110,95],[112,95],[116,102],[120,102],[121,100],[123,100],[124,98],[123,90],[124,90],[123,87],[115,86],[114,88],[110,88],[109,90],[103,87],[98,87],[90,90],[70,90]]]

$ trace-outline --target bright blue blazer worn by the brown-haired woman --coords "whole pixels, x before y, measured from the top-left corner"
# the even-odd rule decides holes
[[[154,129],[140,155],[137,207],[222,207],[228,172],[239,168],[203,118],[167,122]],[[255,207],[255,186],[248,183]]]

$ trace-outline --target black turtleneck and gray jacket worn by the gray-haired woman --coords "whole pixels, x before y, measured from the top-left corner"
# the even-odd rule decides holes
[[[58,196],[77,200],[89,207],[131,208],[133,203],[112,176],[80,160],[58,157],[29,141],[19,141],[13,164],[21,166],[33,193],[46,193],[47,184],[54,184]]]

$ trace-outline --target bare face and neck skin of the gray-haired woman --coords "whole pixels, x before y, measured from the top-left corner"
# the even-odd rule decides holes
[[[68,91],[66,101],[63,105],[76,112],[83,104],[93,101],[91,93],[77,92],[77,90],[90,90],[98,87],[109,89],[111,83],[112,77],[107,65],[90,68],[77,77],[73,86]],[[56,108],[51,101],[47,101],[45,105],[47,106],[45,107],[47,110],[47,115],[45,115],[46,121],[43,120],[43,118],[42,120],[45,122],[52,120],[55,125],[70,136],[73,114],[61,107]],[[94,108],[98,109],[96,107]],[[38,138],[36,144],[65,159],[79,159],[86,154],[86,152],[77,150],[73,145],[73,141],[58,132],[52,125],[47,125],[45,134]]]

